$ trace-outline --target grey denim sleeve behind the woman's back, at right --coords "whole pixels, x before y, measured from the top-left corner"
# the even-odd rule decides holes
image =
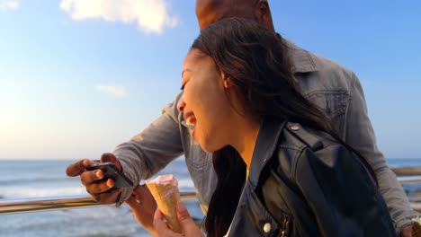
[[[386,200],[399,234],[403,227],[411,224],[411,218],[419,214],[411,208],[405,191],[377,147],[372,123],[367,114],[363,88],[354,74],[352,83],[351,101],[346,114],[345,142],[354,147],[372,165],[379,181],[381,195]]]

